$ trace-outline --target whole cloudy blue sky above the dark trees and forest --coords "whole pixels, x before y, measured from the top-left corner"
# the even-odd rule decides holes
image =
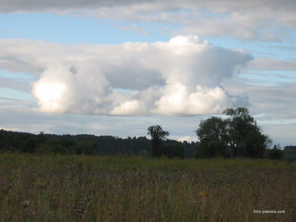
[[[0,129],[127,138],[162,125],[191,142],[201,119],[247,107],[274,144],[296,145],[295,11],[295,0],[0,0]]]

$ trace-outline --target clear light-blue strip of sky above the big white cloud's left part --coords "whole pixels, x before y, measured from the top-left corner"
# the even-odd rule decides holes
[[[87,42],[91,44],[120,44],[128,41],[168,41],[169,36],[159,33],[141,35],[121,31],[112,21],[90,17],[55,15],[50,13],[1,14],[1,38],[42,39],[61,44]]]

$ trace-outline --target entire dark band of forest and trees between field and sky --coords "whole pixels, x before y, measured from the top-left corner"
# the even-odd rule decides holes
[[[162,126],[148,127],[146,136],[126,139],[117,136],[95,136],[88,134],[38,135],[0,130],[0,150],[19,151],[28,153],[60,153],[76,155],[148,155],[167,157],[267,157],[281,159],[283,152],[280,144],[271,148],[272,139],[263,134],[263,130],[250,115],[246,107],[227,108],[221,116],[211,116],[202,119],[195,131],[198,142],[179,142],[167,139],[169,131]],[[295,150],[296,146],[286,146],[285,150]]]

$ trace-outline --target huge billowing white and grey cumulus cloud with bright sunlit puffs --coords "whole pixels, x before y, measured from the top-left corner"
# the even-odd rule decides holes
[[[197,36],[117,45],[1,40],[0,68],[27,71],[38,110],[96,115],[200,115],[237,103],[221,86],[253,59]],[[28,57],[30,59],[28,59]]]

